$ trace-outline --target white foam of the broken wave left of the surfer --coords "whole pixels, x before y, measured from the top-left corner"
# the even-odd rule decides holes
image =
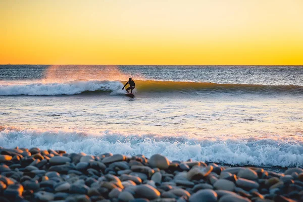
[[[84,91],[121,93],[119,81],[73,81],[66,83],[1,84],[0,95],[72,95]]]

